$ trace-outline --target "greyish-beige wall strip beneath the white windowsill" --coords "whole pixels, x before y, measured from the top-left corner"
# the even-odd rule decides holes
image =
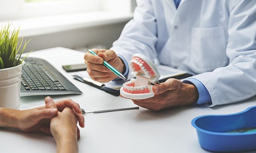
[[[103,45],[106,48],[110,48],[112,43],[120,36],[126,22],[24,37],[26,40],[31,39],[26,47],[26,52],[32,49],[40,50],[56,46],[79,49]]]

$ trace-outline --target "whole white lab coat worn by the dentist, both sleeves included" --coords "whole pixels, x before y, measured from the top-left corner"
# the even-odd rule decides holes
[[[255,38],[255,0],[138,0],[111,49],[193,73],[215,106],[256,94]]]

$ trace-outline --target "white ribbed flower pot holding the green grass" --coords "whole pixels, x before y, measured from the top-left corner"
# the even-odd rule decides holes
[[[0,69],[0,107],[19,109],[20,81],[22,79],[22,66]]]

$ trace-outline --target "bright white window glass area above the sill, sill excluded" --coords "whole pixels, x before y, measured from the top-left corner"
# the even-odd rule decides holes
[[[1,0],[0,20],[98,11],[104,0]]]

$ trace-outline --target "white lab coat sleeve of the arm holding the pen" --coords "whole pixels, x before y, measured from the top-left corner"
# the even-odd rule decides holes
[[[156,58],[156,32],[156,18],[151,1],[137,1],[134,18],[126,23],[119,39],[113,43],[111,49],[122,55],[127,62],[136,53],[142,54],[153,61]],[[129,73],[128,78],[131,77],[131,73]]]

